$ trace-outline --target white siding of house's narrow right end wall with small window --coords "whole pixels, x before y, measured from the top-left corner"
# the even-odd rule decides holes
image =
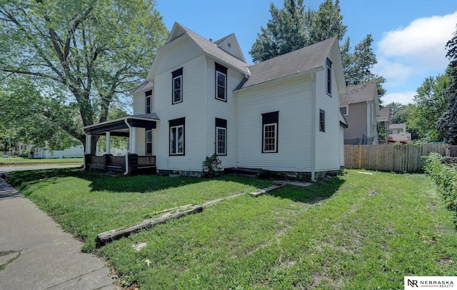
[[[339,94],[332,69],[331,96],[326,94],[326,70],[316,73],[316,172],[340,169]],[[319,110],[325,111],[325,132],[319,130]]]

